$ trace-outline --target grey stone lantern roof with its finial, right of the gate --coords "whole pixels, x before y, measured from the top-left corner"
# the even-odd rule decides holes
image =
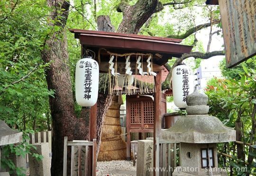
[[[224,126],[217,117],[209,116],[208,96],[195,90],[186,98],[186,116],[174,126],[162,130],[166,140],[186,143],[219,143],[236,141],[236,131]]]

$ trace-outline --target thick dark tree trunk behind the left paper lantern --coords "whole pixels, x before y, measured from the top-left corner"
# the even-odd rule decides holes
[[[52,19],[59,15],[62,16],[61,23],[50,23],[48,25],[57,25],[63,28],[68,17],[69,3],[64,0],[48,0],[47,3],[49,7],[54,7],[50,14]],[[60,9],[65,9],[66,13],[58,14]],[[52,176],[62,176],[64,136],[68,136],[69,141],[87,139],[88,128],[86,127],[88,124],[86,124],[85,118],[76,118],[74,114],[67,40],[64,30],[61,29],[61,31],[53,34],[51,39],[46,40],[45,46],[42,51],[42,59],[46,63],[51,62],[49,68],[46,69],[46,81],[48,89],[55,90],[55,97],[49,98],[53,123],[51,174]],[[70,155],[68,156],[70,157]]]

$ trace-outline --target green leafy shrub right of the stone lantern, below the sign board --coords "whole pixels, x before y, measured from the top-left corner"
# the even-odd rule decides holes
[[[206,88],[206,94],[209,97],[210,114],[218,117],[222,123],[229,127],[235,127],[235,123],[241,121],[242,142],[256,143],[255,121],[253,113],[256,110],[256,70],[253,68],[243,67],[243,72],[238,73],[239,80],[235,79],[217,79],[210,80]],[[238,129],[237,129],[238,130]],[[228,145],[228,146],[227,146]],[[233,159],[220,157],[222,167],[242,168],[246,167],[247,171],[235,172],[235,175],[243,175],[255,172],[255,160],[245,165],[246,160],[237,159],[235,143],[219,144],[219,150],[232,155]],[[255,155],[256,151],[244,145],[245,158]]]

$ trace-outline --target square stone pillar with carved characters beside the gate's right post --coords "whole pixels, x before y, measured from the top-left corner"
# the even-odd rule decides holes
[[[137,176],[153,176],[153,141],[139,140],[137,152]]]

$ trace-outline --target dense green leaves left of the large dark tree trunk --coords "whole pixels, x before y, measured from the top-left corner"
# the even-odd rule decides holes
[[[48,64],[41,60],[52,31],[44,25],[48,10],[41,0],[0,1],[0,119],[20,130],[33,129],[35,120],[42,122],[37,130],[46,129],[43,114],[53,95],[45,79]]]

